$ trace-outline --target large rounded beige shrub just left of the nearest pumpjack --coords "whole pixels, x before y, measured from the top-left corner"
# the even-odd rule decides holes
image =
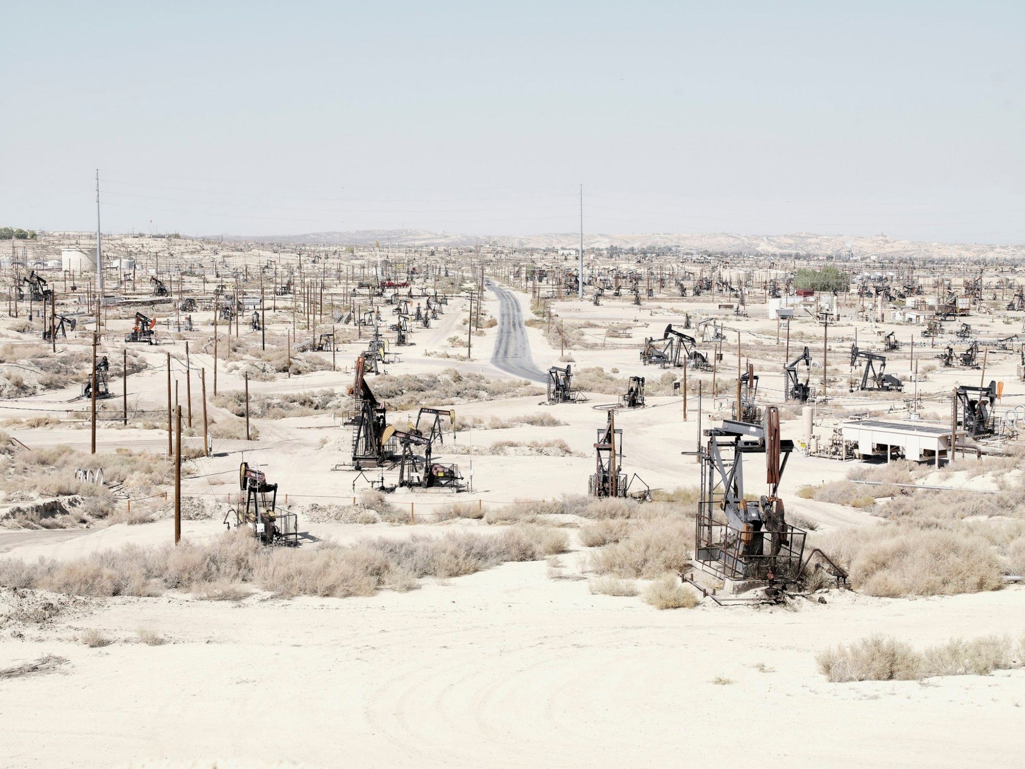
[[[641,521],[618,542],[591,554],[599,574],[620,577],[656,577],[685,568],[694,551],[693,523],[683,517]]]

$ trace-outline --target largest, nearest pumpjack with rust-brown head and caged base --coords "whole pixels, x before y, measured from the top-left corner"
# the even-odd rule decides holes
[[[779,412],[766,408],[764,424],[725,420],[704,431],[701,498],[695,522],[694,564],[702,571],[746,586],[783,585],[801,576],[806,532],[786,522],[779,482],[793,450],[780,439]],[[766,457],[769,493],[748,500],[744,491],[745,454]]]

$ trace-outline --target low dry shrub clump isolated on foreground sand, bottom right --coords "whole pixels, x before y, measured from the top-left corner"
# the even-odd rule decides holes
[[[819,671],[833,683],[849,681],[915,681],[930,676],[985,676],[1021,665],[1025,648],[1016,650],[1007,637],[974,641],[954,639],[915,651],[891,637],[872,636],[840,644],[816,656]],[[1017,655],[1017,656],[1016,656]]]

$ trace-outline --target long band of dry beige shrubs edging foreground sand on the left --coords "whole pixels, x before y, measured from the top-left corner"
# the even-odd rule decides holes
[[[370,596],[378,588],[412,590],[423,576],[471,574],[506,561],[536,561],[566,552],[565,531],[514,526],[483,535],[368,540],[352,547],[268,550],[245,531],[207,543],[115,551],[57,563],[0,560],[0,583],[83,596],[157,596],[191,591],[208,600],[238,600],[249,583],[280,596]]]

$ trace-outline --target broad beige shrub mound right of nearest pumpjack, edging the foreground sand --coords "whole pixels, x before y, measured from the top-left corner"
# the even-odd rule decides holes
[[[852,586],[871,596],[950,596],[1003,584],[998,554],[968,527],[845,529],[824,549],[848,570]]]

